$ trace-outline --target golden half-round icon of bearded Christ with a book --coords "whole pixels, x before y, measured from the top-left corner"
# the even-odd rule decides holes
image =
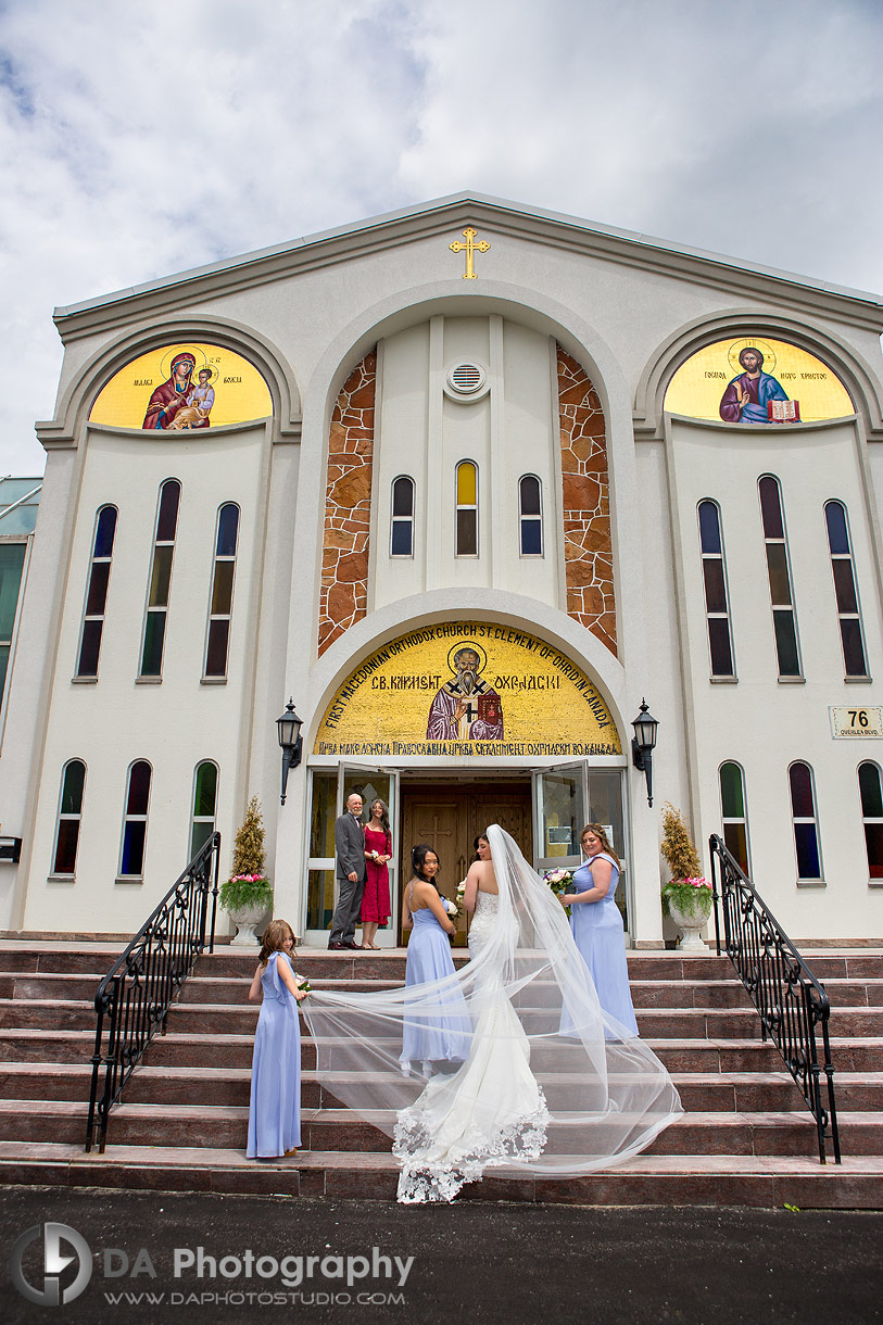
[[[746,364],[752,350],[754,362]],[[750,424],[766,423],[769,403],[785,400],[797,403],[801,423],[855,413],[846,387],[827,364],[768,337],[716,341],[699,350],[671,379],[666,409],[689,419]]]

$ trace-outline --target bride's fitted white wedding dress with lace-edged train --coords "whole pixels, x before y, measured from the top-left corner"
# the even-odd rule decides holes
[[[477,959],[499,925],[500,898],[479,893],[469,929]],[[485,1167],[537,1159],[546,1143],[549,1110],[530,1071],[530,1043],[495,971],[481,973],[481,1011],[469,1057],[453,1076],[435,1076],[403,1109],[392,1154],[402,1165],[403,1204],[452,1200]]]

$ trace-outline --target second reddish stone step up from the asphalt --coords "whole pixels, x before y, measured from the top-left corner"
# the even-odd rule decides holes
[[[8,1141],[64,1141],[84,1143],[86,1109],[73,1101],[0,1100],[0,1136]],[[883,1117],[872,1113],[839,1113],[845,1153],[883,1154]],[[619,1120],[617,1120],[619,1125]],[[597,1136],[598,1124],[565,1122],[549,1129],[549,1154],[583,1153]],[[306,1150],[384,1150],[390,1138],[370,1116],[355,1118],[347,1109],[304,1109],[301,1116]],[[248,1132],[248,1109],[231,1105],[121,1104],[110,1118],[109,1141],[119,1145],[240,1147]],[[663,1132],[647,1153],[652,1154],[803,1154],[815,1150],[815,1124],[809,1113],[762,1112],[685,1113]]]

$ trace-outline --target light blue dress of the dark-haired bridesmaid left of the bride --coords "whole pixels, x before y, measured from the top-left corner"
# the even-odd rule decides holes
[[[408,939],[408,959],[404,969],[406,988],[453,975],[448,935],[428,906],[411,912],[411,920],[414,929]],[[427,1002],[430,1011],[423,1012],[415,1007],[414,1019],[406,1018],[399,1061],[406,1069],[408,1064],[412,1064],[415,1071],[420,1069],[420,1064],[451,1064],[456,1071],[469,1056],[472,1035],[472,1022],[463,994],[452,982],[449,990],[443,987],[438,998],[427,996]],[[436,1003],[435,1007],[432,1002]]]

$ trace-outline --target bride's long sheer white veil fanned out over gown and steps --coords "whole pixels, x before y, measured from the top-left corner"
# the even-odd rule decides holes
[[[488,840],[500,900],[473,961],[427,984],[314,990],[304,1004],[324,1092],[392,1138],[403,1202],[451,1200],[488,1167],[545,1178],[605,1169],[683,1112],[652,1049],[602,1011],[549,886],[502,828]],[[426,1080],[399,1060],[406,1024],[464,1015],[461,1064],[436,1063]]]

